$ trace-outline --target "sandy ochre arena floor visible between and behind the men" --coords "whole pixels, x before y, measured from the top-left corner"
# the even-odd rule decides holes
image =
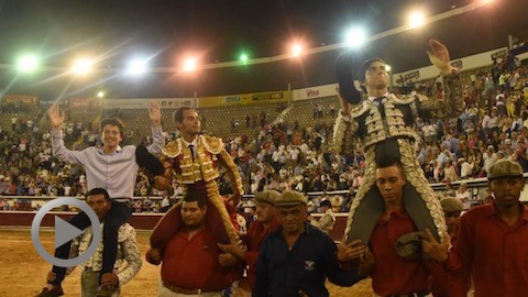
[[[147,249],[148,232],[139,232],[138,243],[144,253]],[[31,243],[30,230],[0,230],[0,297],[35,296],[40,293],[51,265],[36,253]],[[41,232],[44,248],[52,253],[53,232]],[[53,253],[52,253],[53,254]],[[123,286],[122,296],[156,296],[160,267],[143,262],[141,271]],[[372,296],[370,279],[351,288],[327,284],[330,296]],[[64,296],[79,296],[79,270],[74,271],[63,283]]]

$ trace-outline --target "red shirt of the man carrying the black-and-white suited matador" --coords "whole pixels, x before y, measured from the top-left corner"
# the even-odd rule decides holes
[[[380,296],[405,295],[429,290],[429,271],[422,260],[405,260],[396,253],[396,241],[416,231],[405,210],[392,212],[388,219],[378,219],[371,237],[371,249],[376,265],[372,287]]]

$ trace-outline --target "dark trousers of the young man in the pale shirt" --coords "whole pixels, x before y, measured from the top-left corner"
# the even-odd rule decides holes
[[[102,242],[105,243],[105,248],[102,250],[102,270],[99,273],[99,280],[102,274],[113,272],[113,265],[118,257],[118,230],[130,219],[131,216],[132,208],[128,202],[112,200],[112,207],[105,218],[105,228],[102,229]],[[80,230],[85,230],[90,226],[90,219],[84,211],[77,213],[77,216],[72,218],[68,222]],[[68,258],[70,248],[72,241],[56,248],[55,257]],[[66,267],[53,266],[52,271],[56,274],[56,278],[48,283],[55,286],[61,286],[61,283],[66,275]]]

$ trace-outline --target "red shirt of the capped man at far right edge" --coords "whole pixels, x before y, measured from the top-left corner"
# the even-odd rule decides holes
[[[528,209],[519,207],[520,217],[513,226],[501,219],[495,204],[471,209],[461,218],[448,264],[466,286],[471,275],[477,297],[528,294]]]

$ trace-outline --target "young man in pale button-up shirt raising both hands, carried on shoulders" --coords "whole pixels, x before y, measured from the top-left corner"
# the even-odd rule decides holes
[[[88,189],[107,189],[112,199],[112,208],[103,229],[105,261],[100,272],[100,279],[102,282],[103,275],[112,271],[116,262],[118,229],[127,222],[132,215],[130,202],[134,193],[138,169],[140,168],[139,162],[142,162],[141,157],[138,156],[142,151],[136,150],[138,147],[133,145],[121,147],[120,144],[124,136],[124,124],[116,118],[103,119],[101,121],[101,139],[103,143],[101,148],[90,146],[82,151],[70,151],[64,145],[63,141],[62,128],[65,118],[64,112],[61,112],[57,105],[53,105],[48,110],[48,117],[52,123],[53,155],[65,163],[82,165],[86,172]],[[152,122],[154,142],[145,151],[161,153],[165,141],[162,136],[161,108],[156,102],[150,103],[148,118]],[[142,154],[144,155],[146,152]],[[145,161],[143,161],[143,163]],[[151,160],[151,163],[154,162]],[[84,230],[90,224],[90,220],[85,212],[79,212],[69,223]],[[68,256],[68,249],[69,246],[67,244],[57,248],[55,250],[55,257],[66,258]],[[62,296],[63,289],[61,283],[64,279],[66,268],[54,266],[53,272],[56,274],[55,280],[48,282],[37,296]],[[101,290],[107,292],[107,295],[103,296],[111,296],[114,289],[116,288],[105,286],[101,287]]]

